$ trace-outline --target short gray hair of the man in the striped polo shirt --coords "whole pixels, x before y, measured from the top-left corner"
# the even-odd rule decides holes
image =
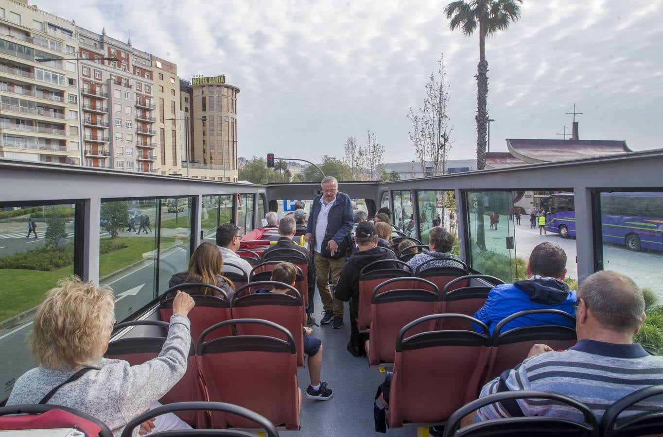
[[[597,271],[580,284],[578,299],[606,329],[631,332],[644,315],[644,296],[633,279],[616,271]]]

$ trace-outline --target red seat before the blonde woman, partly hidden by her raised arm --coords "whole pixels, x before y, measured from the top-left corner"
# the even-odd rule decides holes
[[[168,330],[167,322],[157,320],[132,320],[129,322],[118,323],[113,326],[113,333],[127,328],[128,326],[159,326],[165,334]],[[112,334],[111,334],[112,337]],[[113,340],[108,344],[105,358],[115,360],[125,360],[131,365],[143,364],[152,358],[156,358],[166,341],[166,336],[158,337],[126,337]],[[191,341],[189,358],[186,365],[186,373],[178,383],[160,399],[162,404],[188,401],[204,401],[203,387],[200,384],[200,374],[198,373],[198,364],[196,362],[196,350],[194,342]],[[206,415],[194,411],[178,413],[180,418],[192,426],[207,426]]]

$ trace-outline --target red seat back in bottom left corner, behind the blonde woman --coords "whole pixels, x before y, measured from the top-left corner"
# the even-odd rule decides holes
[[[24,404],[0,408],[0,430],[52,430],[53,428],[76,428],[86,437],[97,435],[113,437],[111,430],[101,420],[69,407]]]

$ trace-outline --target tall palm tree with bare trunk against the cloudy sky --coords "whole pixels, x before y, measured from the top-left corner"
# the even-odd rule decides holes
[[[522,0],[469,0],[453,1],[444,8],[451,19],[452,30],[460,28],[469,36],[479,26],[479,66],[477,67],[477,170],[486,167],[486,128],[488,111],[488,62],[486,61],[485,39],[498,30],[505,30],[512,21],[520,18]]]

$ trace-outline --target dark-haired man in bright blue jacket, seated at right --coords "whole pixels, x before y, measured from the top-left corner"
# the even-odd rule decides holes
[[[575,290],[564,283],[566,275],[566,253],[557,244],[544,242],[532,250],[527,264],[529,279],[512,284],[497,285],[488,294],[488,299],[479,311],[478,318],[490,328],[507,316],[518,311],[531,309],[558,309],[575,316],[573,306],[577,301]],[[559,315],[534,314],[518,317],[505,324],[501,332],[518,326],[561,324],[573,327],[572,320]],[[475,329],[477,326],[475,326]],[[477,332],[479,330],[477,329]]]

